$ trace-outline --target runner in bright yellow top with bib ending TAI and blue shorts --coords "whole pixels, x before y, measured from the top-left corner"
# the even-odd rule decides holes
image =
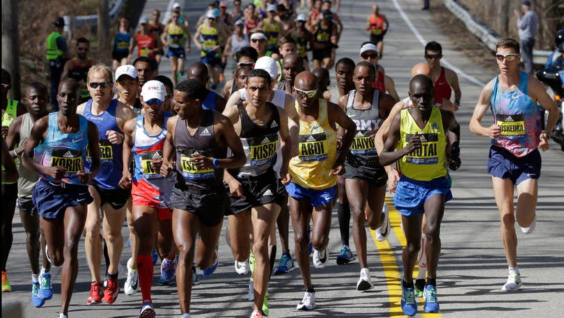
[[[409,81],[409,99],[413,106],[403,109],[393,118],[384,149],[379,154],[382,166],[398,161],[398,170],[402,173],[393,205],[402,214],[402,226],[407,240],[402,253],[401,306],[404,314],[408,316],[417,312],[413,268],[421,248],[423,214],[427,216],[425,235],[428,241],[428,244],[423,246],[427,253],[428,266],[427,283],[423,290],[423,310],[439,312],[439,233],[444,204],[453,198],[446,177],[446,132],[448,129],[455,129],[457,123],[453,113],[434,106],[433,98],[433,83],[429,77],[420,74]],[[457,157],[452,150],[451,157]]]

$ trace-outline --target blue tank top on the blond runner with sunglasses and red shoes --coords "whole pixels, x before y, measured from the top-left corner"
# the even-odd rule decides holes
[[[106,136],[106,132],[109,130],[123,134],[116,121],[117,107],[118,100],[111,100],[108,108],[103,113],[94,115],[91,112],[92,100],[88,100],[84,106],[84,117],[98,127],[98,133],[100,135],[100,173],[96,175],[94,181],[102,189],[118,189],[118,182],[123,173],[123,144],[110,143]],[[87,171],[90,171],[91,164],[91,157],[87,152],[86,164],[84,165]]]

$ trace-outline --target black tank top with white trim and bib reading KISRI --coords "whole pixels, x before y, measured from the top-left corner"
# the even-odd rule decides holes
[[[274,104],[267,102],[266,106],[272,111],[270,120],[264,125],[256,125],[243,102],[237,103],[239,118],[241,119],[241,143],[246,156],[246,163],[241,168],[229,170],[237,177],[256,177],[272,169],[276,163],[276,148],[279,145],[278,132],[280,129],[280,116]]]

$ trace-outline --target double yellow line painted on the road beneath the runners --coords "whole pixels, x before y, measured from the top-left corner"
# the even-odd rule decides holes
[[[395,233],[395,237],[398,237],[400,244],[405,246],[407,244],[405,240],[405,235],[401,230],[401,216],[400,212],[393,207],[393,202],[389,198],[386,198],[386,204],[389,207],[389,217],[392,226],[392,231]],[[388,285],[388,298],[390,302],[390,317],[403,315],[402,308],[400,305],[402,298],[402,289],[400,287],[401,272],[398,266],[398,260],[393,255],[393,251],[390,247],[388,240],[378,241],[376,239],[376,233],[370,230],[372,234],[372,239],[376,244],[378,249],[378,255],[380,256],[380,262],[382,262],[382,267],[384,268],[384,276],[386,276],[386,285]],[[391,234],[391,233],[390,233]],[[401,255],[400,255],[401,260]],[[416,275],[416,274],[415,274]],[[423,312],[423,297],[417,300],[417,312],[422,313],[423,317],[434,317],[440,318],[440,312],[437,314],[428,314]]]

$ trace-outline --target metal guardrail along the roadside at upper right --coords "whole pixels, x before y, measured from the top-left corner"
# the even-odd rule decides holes
[[[489,49],[496,51],[496,43],[499,38],[494,35],[491,30],[474,21],[472,15],[470,15],[470,13],[468,13],[466,9],[462,8],[460,4],[456,3],[455,0],[444,0],[444,5],[449,11],[451,11],[453,15],[455,15],[466,25],[468,31],[473,33],[473,35],[476,35],[476,37],[479,38],[480,41],[482,41]],[[533,62],[538,64],[545,64],[547,62],[548,56],[551,53],[551,51],[535,49],[533,50]]]

